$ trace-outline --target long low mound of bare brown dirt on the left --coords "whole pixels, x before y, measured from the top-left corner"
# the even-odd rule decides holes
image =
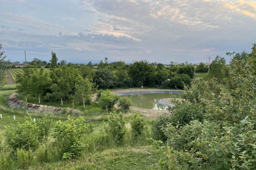
[[[19,100],[16,98],[16,95],[18,93],[13,93],[8,96],[8,102],[11,107],[16,108],[24,108],[25,101]],[[46,105],[39,105],[39,104],[33,104],[28,103],[29,111],[38,111],[43,113],[76,113],[76,114],[82,114],[80,110],[77,109],[71,109],[71,108],[62,108],[62,107],[54,107],[54,106],[46,106]]]

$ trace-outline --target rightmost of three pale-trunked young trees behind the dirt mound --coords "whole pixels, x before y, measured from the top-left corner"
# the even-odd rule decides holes
[[[83,107],[85,108],[85,101],[91,99],[92,94],[92,83],[88,79],[82,79],[75,85],[75,97],[83,102]]]

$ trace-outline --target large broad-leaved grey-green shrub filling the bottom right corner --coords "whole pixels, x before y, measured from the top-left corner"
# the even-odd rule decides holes
[[[166,129],[168,145],[154,141],[162,153],[164,169],[254,170],[256,168],[256,126],[248,118],[239,124],[192,121],[183,127]]]

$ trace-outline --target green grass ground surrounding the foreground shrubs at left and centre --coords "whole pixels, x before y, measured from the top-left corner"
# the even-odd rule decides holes
[[[0,119],[0,147],[3,147],[4,143],[4,134],[5,134],[5,126],[14,126],[16,127],[18,122],[23,123],[25,120],[28,120],[28,114],[23,109],[11,108],[8,105],[7,97],[11,93],[15,92],[15,85],[5,85],[0,94],[0,114],[2,114],[2,119]],[[23,98],[23,96],[20,96]],[[37,97],[29,97],[29,101],[37,102]],[[70,107],[70,101],[64,102],[65,107]],[[47,103],[49,104],[49,103]],[[60,103],[51,103],[53,105],[59,106]],[[83,108],[81,103],[76,102],[75,107]],[[15,115],[16,120],[13,119]],[[30,113],[31,118],[41,118],[44,114],[39,112]],[[50,137],[47,140],[48,145],[51,145],[53,139],[54,125],[56,121],[66,120],[67,115],[64,114],[53,114],[53,122],[50,127]],[[103,126],[103,122],[108,120],[108,116],[104,110],[101,110],[97,104],[87,105],[86,110],[84,110],[84,116],[87,123],[93,123],[95,128],[91,135],[87,136],[84,139],[84,142],[89,143],[88,148],[86,148],[82,155],[77,159],[71,160],[60,160],[60,159],[52,159],[47,163],[39,163],[37,161],[33,161],[33,163],[29,162],[29,167],[26,169],[30,170],[144,170],[151,169],[157,170],[159,169],[158,160],[159,153],[154,151],[150,147],[150,143],[145,140],[145,138],[151,138],[151,126],[153,120],[146,119],[146,130],[140,138],[134,140],[131,127],[129,122],[131,120],[131,113],[124,114],[124,118],[126,121],[127,133],[124,137],[124,142],[121,145],[116,145],[113,143],[106,143],[105,145],[97,144],[97,133]],[[73,115],[75,118],[76,115]],[[102,122],[103,121],[103,122]],[[2,141],[2,142],[1,142]],[[95,143],[96,142],[96,143]],[[2,143],[2,144],[1,144]],[[47,143],[43,144],[47,145]],[[1,157],[1,149],[0,149],[0,157]],[[3,153],[5,154],[5,153]],[[36,154],[36,153],[35,153]],[[34,157],[35,160],[37,157]],[[19,163],[15,163],[12,166],[19,167]],[[0,166],[1,167],[1,166]],[[19,168],[18,168],[19,169]]]

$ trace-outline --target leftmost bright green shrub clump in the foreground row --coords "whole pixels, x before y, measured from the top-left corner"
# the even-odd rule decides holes
[[[5,130],[6,142],[13,150],[17,148],[34,150],[48,136],[51,122],[51,116],[45,115],[36,123],[29,120],[22,124],[18,122],[17,128],[8,126]]]

